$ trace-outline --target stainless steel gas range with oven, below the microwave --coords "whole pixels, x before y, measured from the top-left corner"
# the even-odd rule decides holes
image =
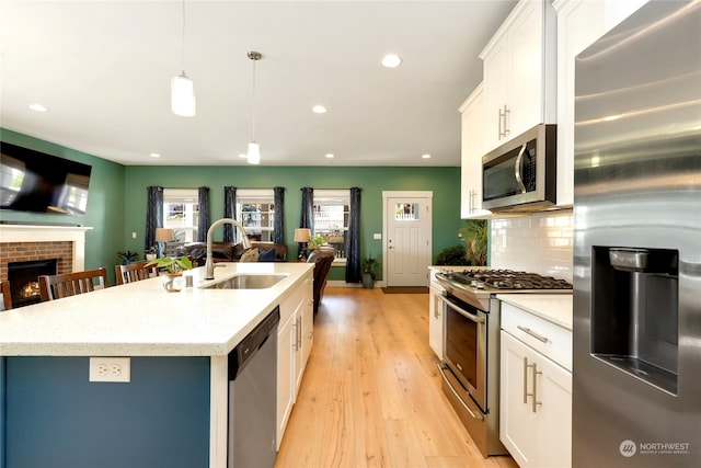
[[[508,454],[499,442],[498,294],[571,293],[572,284],[536,273],[473,269],[436,274],[445,293],[444,391],[483,456]]]

